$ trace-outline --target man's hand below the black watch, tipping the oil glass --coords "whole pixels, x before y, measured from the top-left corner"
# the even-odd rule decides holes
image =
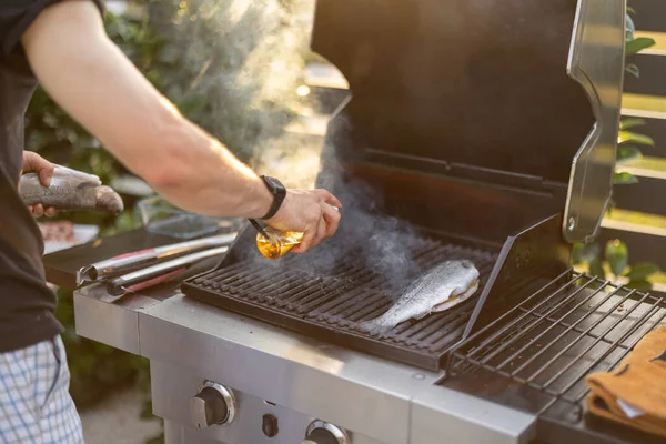
[[[278,214],[266,224],[282,231],[304,233],[293,253],[305,253],[335,234],[342,203],[326,190],[287,190]]]

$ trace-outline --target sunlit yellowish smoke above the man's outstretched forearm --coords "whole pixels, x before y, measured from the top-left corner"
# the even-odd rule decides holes
[[[157,56],[161,90],[181,112],[256,167],[297,114],[314,2],[150,2],[149,21],[168,43]],[[285,149],[279,149],[285,152]],[[270,154],[276,158],[274,154]]]

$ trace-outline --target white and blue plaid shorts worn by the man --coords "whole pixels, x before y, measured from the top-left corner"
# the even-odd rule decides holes
[[[83,443],[60,336],[0,353],[0,443]]]

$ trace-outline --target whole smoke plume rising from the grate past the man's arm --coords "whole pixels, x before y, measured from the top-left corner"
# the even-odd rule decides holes
[[[196,73],[189,90],[203,92],[211,107],[210,119],[198,123],[246,153],[256,172],[278,176],[290,188],[312,189],[322,154],[336,162],[337,148],[349,143],[343,119],[329,128],[325,150],[323,138],[284,131],[293,122],[291,113],[315,114],[312,101],[296,93],[311,33],[311,23],[300,18],[312,17],[314,1],[189,0],[180,8],[178,17],[189,34],[180,63]],[[213,50],[221,41],[230,44]],[[278,261],[264,259],[253,245],[238,252],[269,271],[300,269],[322,278],[349,279],[344,270],[353,262],[398,294],[420,272],[414,252],[427,241],[407,222],[386,215],[385,196],[371,184],[326,173],[319,186],[343,203],[335,236],[304,255]]]

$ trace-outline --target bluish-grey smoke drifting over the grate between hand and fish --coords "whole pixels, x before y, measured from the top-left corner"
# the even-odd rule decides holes
[[[341,173],[344,164],[340,162],[339,153],[351,143],[345,138],[346,129],[343,118],[335,119],[329,129],[326,147],[316,154],[316,159],[325,160],[322,164],[329,168],[310,170],[316,175],[317,188],[331,191],[343,204],[342,220],[335,235],[302,255],[287,254],[280,260],[269,261],[252,249],[245,252],[244,260],[265,270],[299,270],[317,278],[344,280],[357,278],[354,272],[362,268],[365,274],[373,274],[371,278],[365,275],[365,282],[372,280],[387,294],[397,296],[415,275],[424,271],[420,269],[415,253],[428,240],[406,220],[385,212],[390,196],[384,195],[379,186]],[[315,153],[312,152],[312,155]]]

